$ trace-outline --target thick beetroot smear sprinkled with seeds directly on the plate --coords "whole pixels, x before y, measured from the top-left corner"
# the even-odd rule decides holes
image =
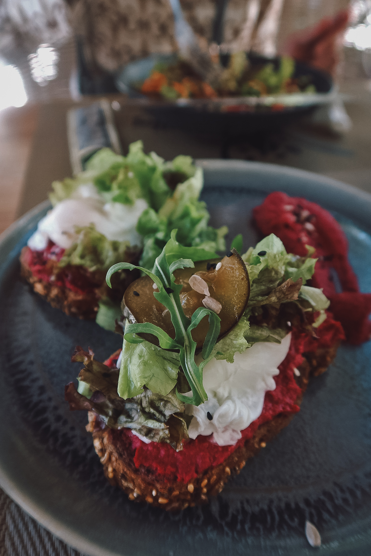
[[[311,285],[323,289],[351,344],[369,340],[371,294],[359,291],[348,261],[347,239],[334,217],[313,202],[279,191],[268,195],[253,214],[259,230],[278,236],[286,251],[305,256],[305,245],[315,248],[318,262]]]

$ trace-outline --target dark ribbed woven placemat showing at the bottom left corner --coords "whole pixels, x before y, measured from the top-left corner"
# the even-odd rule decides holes
[[[0,489],[0,556],[83,556],[44,529]]]

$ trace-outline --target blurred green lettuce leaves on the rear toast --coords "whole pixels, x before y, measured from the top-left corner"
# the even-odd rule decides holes
[[[142,236],[140,266],[152,269],[171,231],[178,230],[177,240],[185,246],[202,247],[207,251],[225,249],[225,226],[214,229],[208,225],[210,214],[199,201],[203,185],[202,170],[190,156],[177,156],[166,162],[143,150],[136,141],[127,156],[117,155],[108,148],[97,151],[86,163],[86,170],[75,178],[52,183],[50,194],[55,206],[76,195],[79,186],[95,186],[96,195],[106,203],[119,202],[131,206],[139,198],[148,203],[137,223]],[[78,228],[78,240],[65,252],[61,265],[82,265],[94,271],[108,270],[125,259],[127,242],[110,241],[93,226]],[[131,246],[134,247],[134,246]]]

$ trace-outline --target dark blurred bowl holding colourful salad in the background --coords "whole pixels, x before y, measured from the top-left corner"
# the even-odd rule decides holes
[[[227,63],[227,56],[223,62]],[[115,78],[122,93],[146,99],[144,105],[161,125],[175,127],[192,133],[207,133],[230,140],[252,135],[256,131],[273,131],[301,117],[309,115],[316,107],[330,103],[335,98],[332,78],[319,69],[295,63],[294,78],[308,76],[316,93],[286,93],[261,97],[230,97],[214,99],[178,98],[174,101],[146,97],[134,84],[144,81],[159,62],[172,62],[175,57],[152,55],[128,64]],[[251,65],[273,63],[278,67],[280,57],[267,58],[249,54]]]

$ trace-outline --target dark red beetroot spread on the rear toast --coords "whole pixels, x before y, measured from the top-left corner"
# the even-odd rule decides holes
[[[65,249],[52,241],[43,251],[33,251],[29,247],[22,250],[22,262],[32,271],[33,276],[43,282],[53,282],[58,287],[66,287],[76,294],[87,294],[101,285],[102,279],[81,265],[60,266]]]

